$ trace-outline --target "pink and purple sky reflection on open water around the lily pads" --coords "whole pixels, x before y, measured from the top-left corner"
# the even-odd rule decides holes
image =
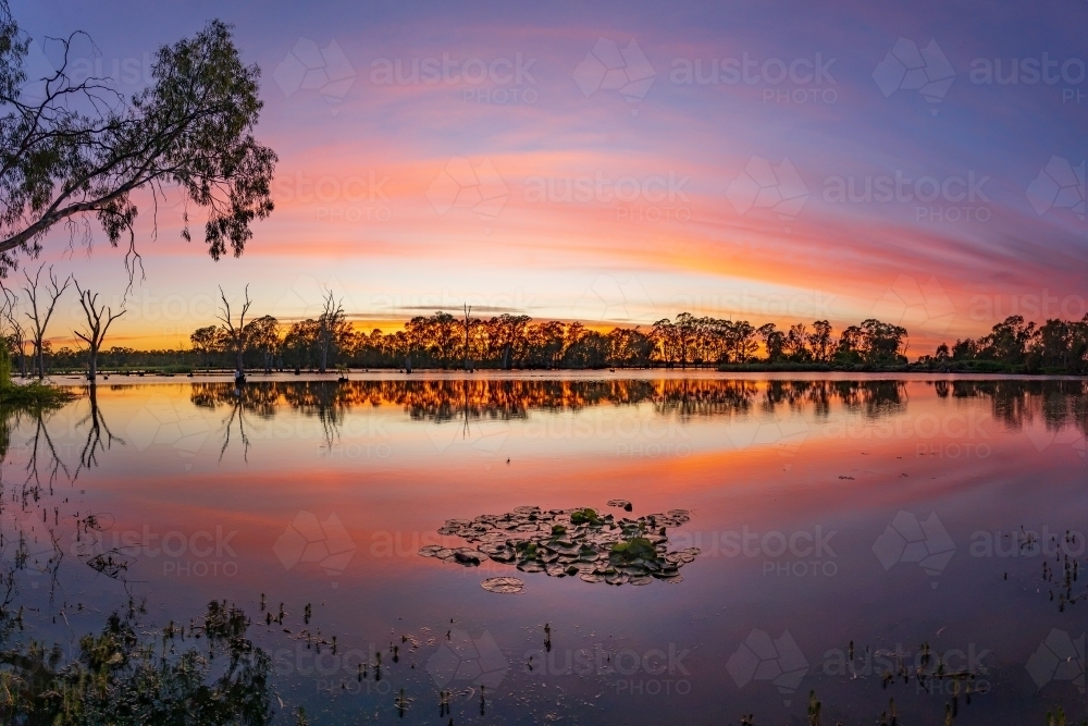
[[[568,380],[574,381],[571,392],[601,385],[577,384],[592,377]],[[442,377],[429,381],[450,390]],[[901,644],[913,654],[924,641],[942,652],[989,651],[982,663],[993,691],[977,697],[967,713],[985,718],[1025,714],[1024,709],[1038,705],[1024,663],[1051,628],[1072,632],[1079,620],[1068,608],[1059,613],[1046,589],[1036,592],[1040,557],[979,556],[972,554],[972,546],[978,532],[1001,533],[996,536],[1000,540],[1022,525],[1040,534],[1084,529],[1085,459],[1083,445],[1079,452],[1076,446],[1084,436],[1067,435],[1078,429],[1043,426],[1037,395],[1005,396],[996,407],[989,394],[939,397],[924,380],[900,386],[898,405],[869,397],[874,405],[867,406],[866,396],[858,395],[860,405],[846,408],[832,396],[826,416],[817,415],[803,397],[787,395],[793,404],[767,405],[772,389],[756,379],[750,381],[754,395],[747,413],[719,408],[707,414],[705,403],[725,384],[704,379],[689,381],[684,389],[673,383],[666,395],[666,384],[658,382],[656,403],[593,405],[577,398],[582,402],[577,411],[534,407],[511,419],[486,415],[470,419],[467,431],[458,419],[456,396],[443,408],[442,422],[435,422],[433,414],[412,418],[403,397],[378,396],[378,406],[363,403],[337,413],[341,436],[332,448],[325,447],[325,430],[312,415],[316,408],[305,409],[311,413],[307,416],[281,403],[262,408],[263,416],[246,414],[248,453],[237,418],[223,450],[232,410],[228,385],[214,409],[194,406],[186,385],[103,387],[98,394],[102,420],[125,442],[115,441],[99,455],[99,467],[81,473],[77,491],[61,505],[60,516],[109,513],[113,526],[107,538],[114,532],[135,533],[137,540],[145,531],[159,538],[180,532],[191,542],[197,532],[222,531],[227,544],[222,554],[205,557],[187,551],[171,557],[146,552],[135,557],[131,577],[147,594],[152,615],[163,622],[187,618],[211,599],[230,598],[251,610],[259,593],[265,593],[273,610],[286,603],[294,618],[287,623],[295,632],[304,604],[312,603],[313,627],[326,636],[336,633],[342,649],[366,650],[375,642],[385,648],[390,638],[418,633],[422,625],[438,629],[441,637],[450,618],[472,637],[486,630],[516,666],[511,680],[489,696],[496,713],[511,713],[511,694],[520,693],[530,698],[533,713],[543,713],[545,706],[578,710],[584,702],[616,717],[645,717],[647,710],[659,715],[696,709],[718,713],[728,705],[781,721],[803,712],[809,688],[828,706],[852,703],[864,714],[878,714],[889,697],[895,698],[901,717],[914,714],[914,721],[924,722],[943,713],[947,699],[918,694],[913,681],[908,689],[885,691],[879,674],[861,682],[824,674],[824,654],[844,650],[851,640],[860,653],[866,647]],[[1016,393],[1014,382],[1000,384]],[[426,383],[417,380],[413,385],[423,389]],[[1027,385],[1038,390],[1043,384]],[[495,389],[497,398],[517,401],[503,390],[502,384]],[[895,387],[886,383],[880,390],[890,393]],[[616,382],[610,391],[615,397],[626,395]],[[684,391],[688,410],[695,411],[703,402],[703,414],[679,417],[673,405]],[[790,394],[800,389],[783,384],[776,391]],[[318,398],[295,399],[312,406]],[[440,399],[416,398],[428,405]],[[478,401],[470,397],[470,403]],[[1016,402],[1021,404],[1012,405]],[[1050,403],[1051,411],[1073,410],[1076,398],[1062,398],[1068,404],[1064,407]],[[194,420],[203,422],[207,435],[195,448],[181,428],[171,427],[174,418],[163,413],[168,408],[176,420],[189,421],[187,430],[196,430]],[[149,409],[152,418],[166,422],[150,440]],[[50,420],[62,458],[82,448],[85,424],[77,421],[85,413],[86,402]],[[21,444],[32,431],[27,422],[13,432],[5,473],[21,472],[26,465],[29,450]],[[1048,431],[1053,434],[1049,439]],[[669,444],[672,450],[666,448]],[[526,594],[507,598],[484,592],[479,582],[485,576],[510,574],[508,567],[467,570],[415,554],[421,544],[435,541],[435,530],[447,518],[527,504],[604,508],[615,497],[633,502],[634,516],[678,507],[692,510],[691,521],[670,532],[677,546],[703,549],[683,570],[682,583],[615,589],[526,575]],[[343,524],[355,547],[343,573],[330,573],[320,562],[305,558],[285,568],[273,546],[300,512],[323,522],[330,538],[335,533],[330,516],[335,514]],[[941,571],[927,574],[915,562],[894,557],[887,569],[881,565],[874,543],[900,512],[919,520],[936,514],[955,547]],[[774,546],[775,532],[786,538],[803,532],[799,542],[804,546],[805,537],[816,537],[817,530],[829,547],[820,555],[756,552],[765,543]],[[743,539],[745,533],[754,539]],[[1001,541],[1009,552],[1010,540]],[[738,553],[730,542],[747,542],[752,554]],[[199,576],[194,567],[200,562],[231,563],[236,569],[231,570],[234,575]],[[813,563],[820,575],[812,574]],[[115,585],[104,578],[85,581],[79,596],[106,607],[113,602],[110,598],[123,596]],[[617,691],[615,675],[530,677],[521,670],[522,655],[541,647],[544,623],[556,633],[560,668],[565,652],[596,643],[614,652],[667,652],[670,643],[690,649],[684,662],[690,698],[627,698]],[[755,679],[737,688],[726,675],[729,656],[753,629],[772,638],[789,631],[811,666],[788,709],[770,682]],[[284,642],[294,648],[294,641],[273,630],[261,638],[273,648]],[[425,705],[434,689],[409,666],[423,668],[434,647],[416,654],[406,650],[398,667],[386,661],[387,677],[397,687],[406,684],[409,694]],[[346,701],[314,697],[316,677],[296,675],[285,681],[294,684],[293,698],[307,703],[308,713],[311,703],[318,713],[347,707]],[[559,688],[572,700],[555,706]],[[1047,703],[1064,702],[1067,709],[1073,702],[1068,699],[1075,698],[1068,682],[1051,684],[1042,693]],[[378,696],[373,702],[387,707]],[[1036,715],[1028,711],[1024,723],[1033,723]]]

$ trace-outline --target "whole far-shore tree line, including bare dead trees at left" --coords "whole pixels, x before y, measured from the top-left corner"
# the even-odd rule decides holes
[[[354,327],[342,302],[332,293],[311,318],[281,322],[270,315],[250,315],[246,287],[240,305],[232,307],[220,288],[217,324],[198,328],[189,349],[136,350],[106,348],[110,324],[124,315],[100,306],[97,294],[74,278],[58,280],[52,268],[35,275],[24,271],[20,294],[3,287],[0,334],[15,368],[24,377],[41,377],[47,366],[86,370],[95,380],[100,367],[111,369],[175,367],[237,370],[316,370],[336,368],[465,369],[594,369],[729,368],[779,366],[814,370],[905,369],[910,337],[905,328],[876,319],[836,331],[827,320],[779,329],[745,320],[697,317],[681,312],[645,328],[593,330],[584,323],[533,320],[503,313],[473,317],[436,311],[416,316],[403,329],[370,332]],[[79,294],[86,318],[73,331],[83,349],[53,352],[46,339],[57,302],[71,284]],[[930,371],[1088,373],[1088,316],[1080,321],[1048,320],[1042,325],[1012,316],[977,339],[941,344],[912,368]]]

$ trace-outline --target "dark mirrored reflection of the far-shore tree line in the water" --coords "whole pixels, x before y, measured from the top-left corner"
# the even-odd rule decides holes
[[[1088,430],[1086,382],[1077,380],[938,381],[938,396],[980,397],[992,402],[994,416],[1012,427],[1040,416],[1048,426],[1076,421]],[[336,436],[344,416],[355,408],[394,405],[420,421],[526,418],[532,410],[578,411],[601,405],[651,404],[660,415],[681,419],[774,414],[783,406],[818,417],[832,406],[878,419],[902,415],[906,383],[897,380],[755,379],[395,379],[378,381],[270,381],[240,390],[231,383],[195,383],[197,406],[231,406],[262,418],[288,408],[318,418],[326,443]]]

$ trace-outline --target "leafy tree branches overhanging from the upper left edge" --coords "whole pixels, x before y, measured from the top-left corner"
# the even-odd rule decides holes
[[[158,202],[165,186],[207,212],[213,259],[228,247],[242,254],[250,223],[272,211],[276,156],[251,135],[260,69],[242,62],[231,29],[211,21],[161,47],[153,84],[126,99],[108,79],[69,77],[74,35],[59,40],[59,70],[28,77],[30,38],[0,0],[0,275],[36,257],[58,223],[89,247],[94,216],[111,245],[127,236],[131,283],[139,260],[133,193],[150,189]],[[190,239],[187,212],[182,236]]]

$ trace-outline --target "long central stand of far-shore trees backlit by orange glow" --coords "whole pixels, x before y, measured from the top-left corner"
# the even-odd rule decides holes
[[[225,302],[224,302],[225,304]],[[226,318],[228,319],[228,318]],[[221,316],[221,320],[224,318]],[[729,364],[906,362],[906,330],[879,320],[850,325],[838,336],[826,320],[779,330],[744,320],[696,317],[681,312],[643,329],[592,330],[584,323],[535,321],[503,313],[477,318],[437,311],[416,316],[401,330],[356,330],[330,294],[317,318],[282,325],[271,317],[225,322],[195,331],[190,337],[201,365],[243,361],[265,370],[316,369],[334,365],[357,368],[592,369],[605,367],[718,367]],[[233,365],[233,364],[232,364]]]

